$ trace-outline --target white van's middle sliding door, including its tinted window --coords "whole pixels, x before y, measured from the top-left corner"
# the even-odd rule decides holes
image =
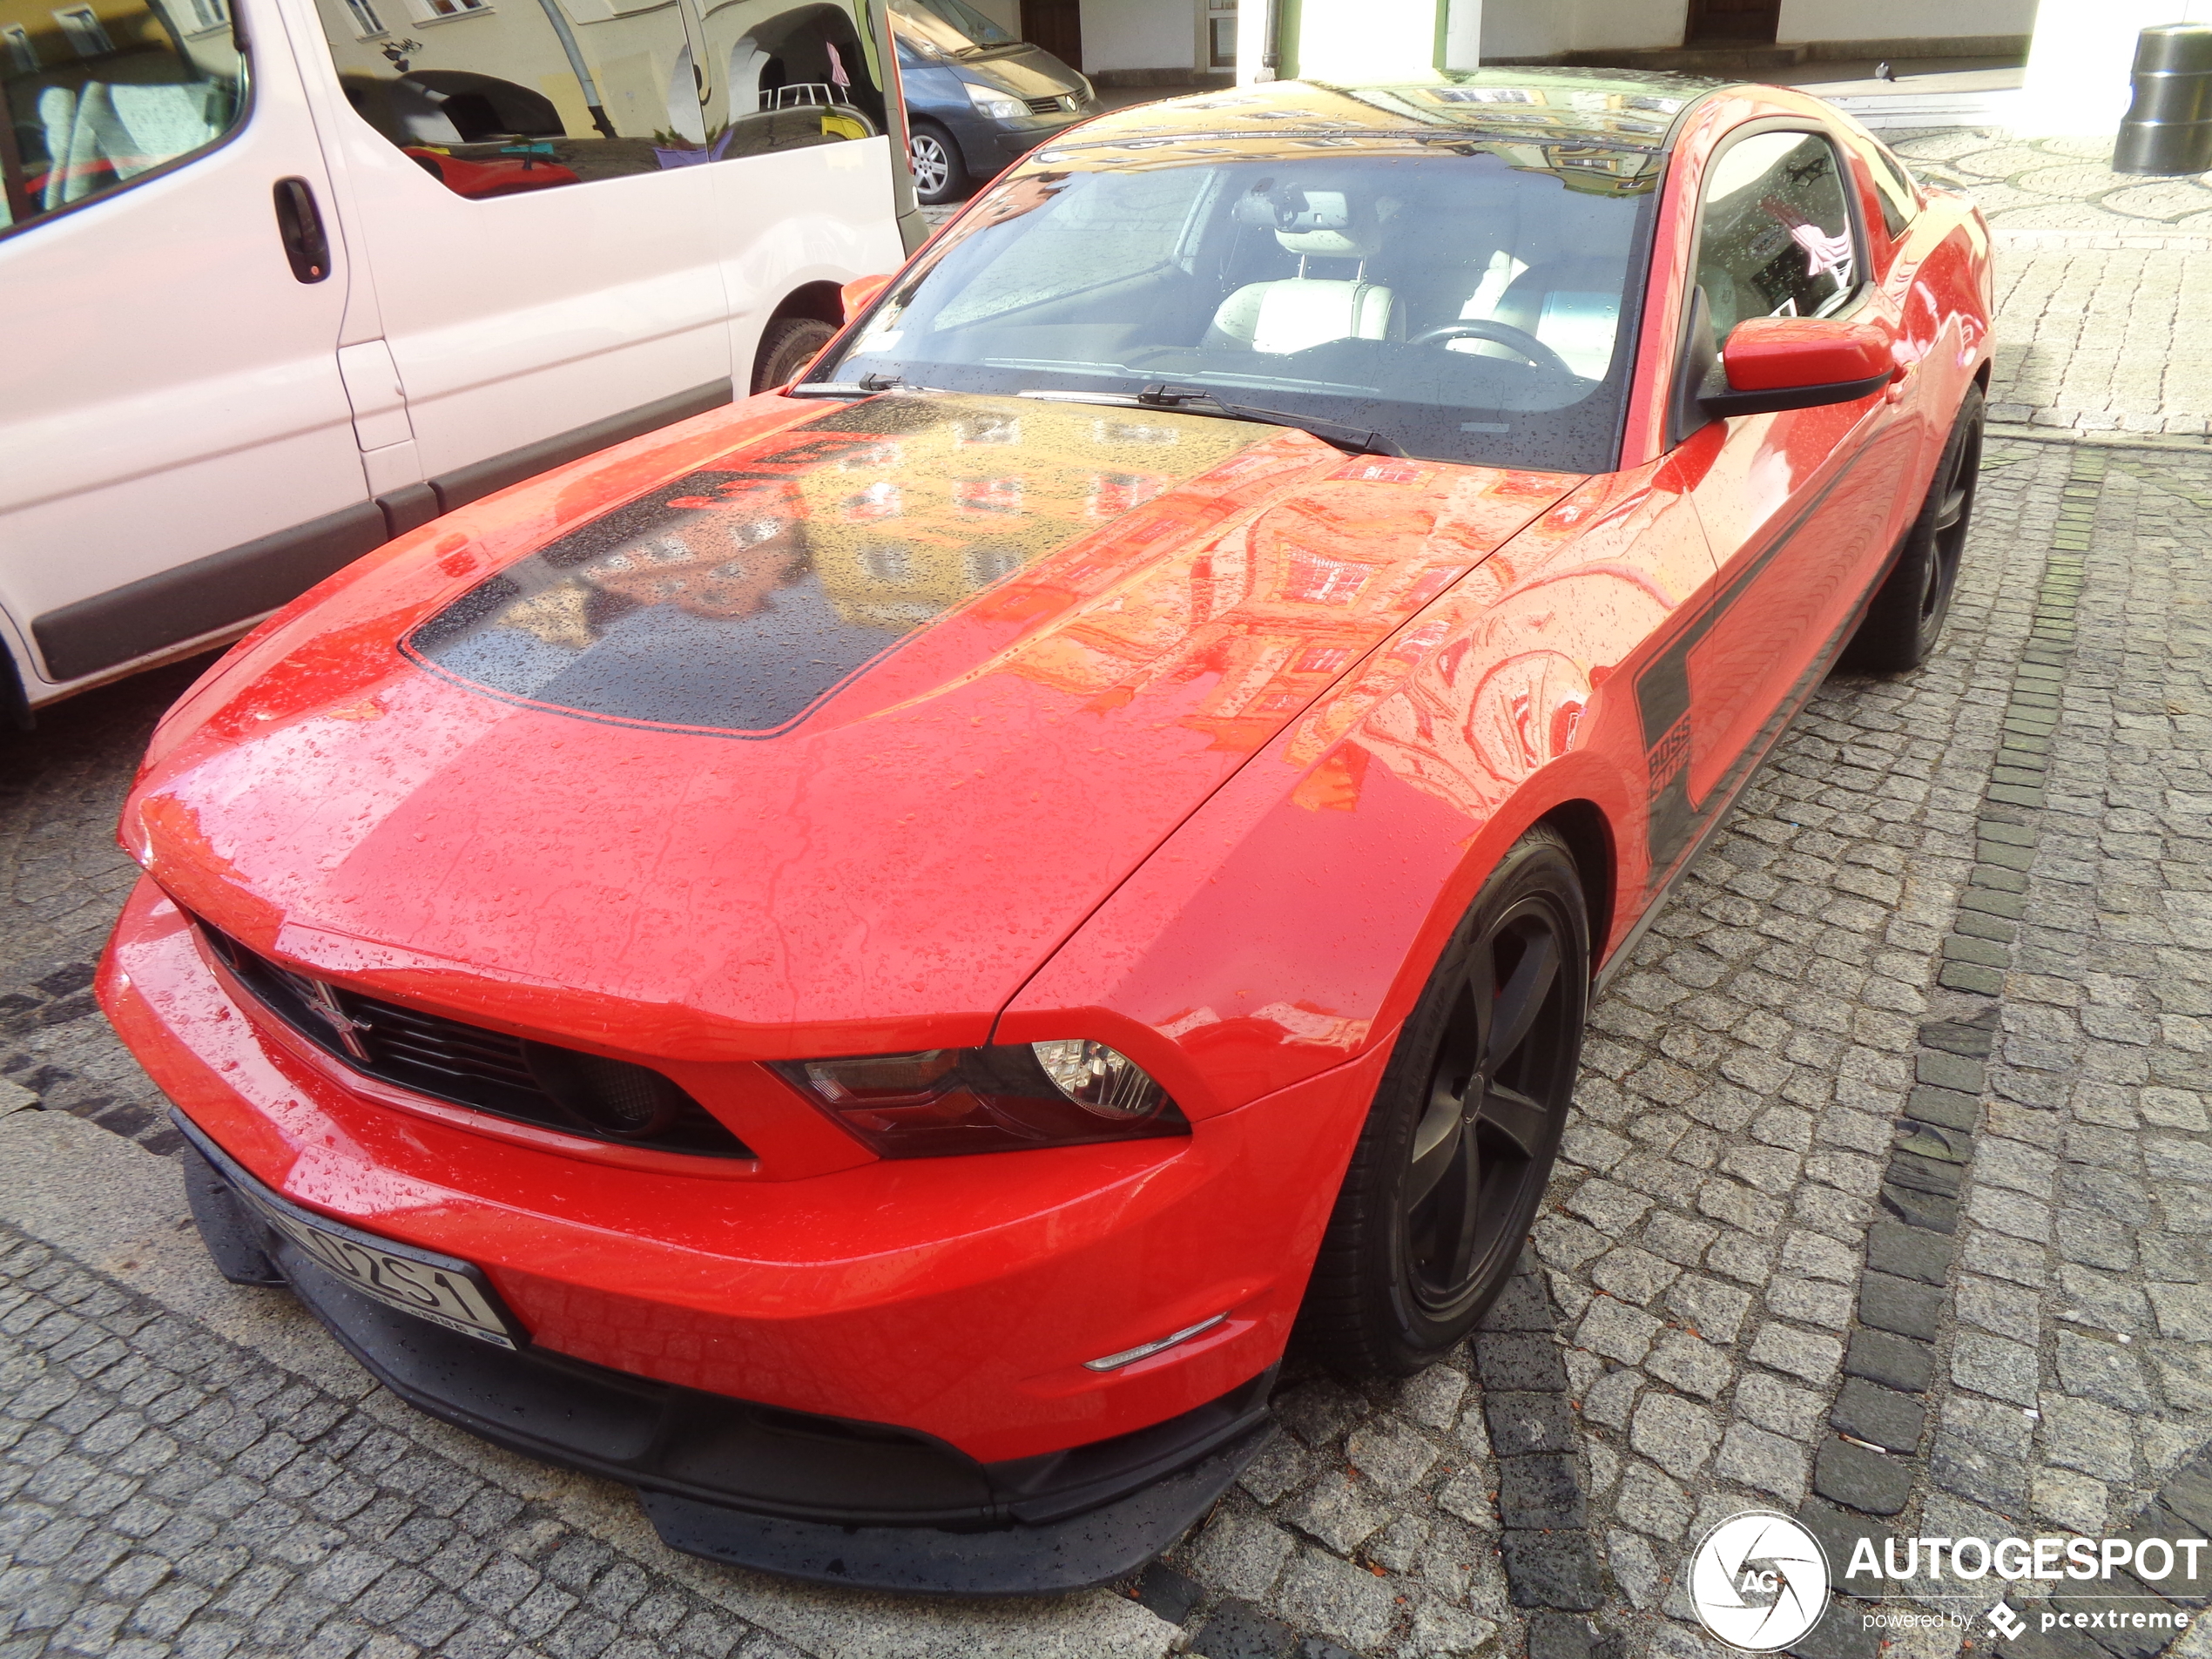
[[[730,400],[677,0],[285,0],[396,367],[396,522]],[[411,476],[411,478],[409,478]]]

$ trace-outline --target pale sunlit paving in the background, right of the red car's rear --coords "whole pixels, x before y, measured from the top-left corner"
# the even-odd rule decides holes
[[[1896,148],[1997,241],[1991,420],[2205,436],[2212,175],[2110,170],[2110,139],[1922,133]]]

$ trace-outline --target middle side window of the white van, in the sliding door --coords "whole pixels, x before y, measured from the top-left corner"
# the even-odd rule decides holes
[[[354,111],[453,195],[710,159],[675,0],[316,0]]]

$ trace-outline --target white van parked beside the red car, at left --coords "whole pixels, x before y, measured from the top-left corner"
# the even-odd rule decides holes
[[[0,0],[0,719],[787,380],[896,86],[883,0]]]

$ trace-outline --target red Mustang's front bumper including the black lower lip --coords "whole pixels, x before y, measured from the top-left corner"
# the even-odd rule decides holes
[[[1203,1511],[1259,1420],[1383,1064],[1201,1119],[1188,1144],[805,1179],[723,1159],[699,1179],[363,1097],[226,991],[150,883],[100,993],[228,1181],[476,1263],[526,1332],[520,1354],[449,1336],[272,1243],[394,1391],[641,1489],[681,1548],[883,1588],[1102,1582]],[[1175,1349],[1082,1365],[1217,1310]]]

